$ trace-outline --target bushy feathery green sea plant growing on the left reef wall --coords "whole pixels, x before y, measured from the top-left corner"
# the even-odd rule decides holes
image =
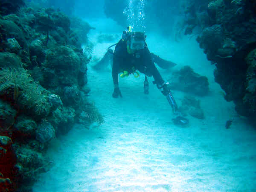
[[[47,115],[50,106],[46,93],[25,69],[0,68],[0,96],[6,96],[9,101],[36,115]]]

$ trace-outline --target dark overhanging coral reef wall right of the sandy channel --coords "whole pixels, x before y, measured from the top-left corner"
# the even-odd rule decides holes
[[[186,20],[189,15],[196,16],[192,25],[201,29],[197,41],[216,65],[215,81],[226,92],[225,99],[235,102],[240,115],[254,121],[256,4],[253,0],[208,0],[205,3],[207,6],[199,9],[186,9]],[[186,4],[188,8],[197,7],[198,1],[186,0]],[[187,21],[185,26],[189,25]]]

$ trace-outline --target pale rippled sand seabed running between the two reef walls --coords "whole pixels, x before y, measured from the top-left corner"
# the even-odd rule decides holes
[[[96,42],[100,31],[92,31],[90,40]],[[113,43],[96,44],[93,54],[102,56]],[[171,107],[152,78],[149,95],[143,94],[143,75],[120,79],[123,98],[113,99],[111,69],[96,72],[91,63],[90,98],[105,123],[89,130],[76,125],[52,141],[49,157],[54,164],[41,174],[35,192],[256,191],[256,130],[224,100],[214,81],[215,66],[198,43],[148,34],[147,44],[151,52],[178,64],[172,70],[189,65],[208,77],[209,96],[195,96],[205,119],[188,116],[189,127],[175,126]],[[172,70],[160,73],[166,79]],[[186,93],[172,92],[181,105]],[[230,118],[235,120],[226,129]]]

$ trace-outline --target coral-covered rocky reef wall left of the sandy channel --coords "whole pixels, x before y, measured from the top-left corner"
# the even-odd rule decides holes
[[[90,55],[81,44],[91,27],[23,1],[1,1],[1,10],[0,191],[30,191],[51,166],[45,153],[53,138],[75,122],[104,121],[87,97]]]

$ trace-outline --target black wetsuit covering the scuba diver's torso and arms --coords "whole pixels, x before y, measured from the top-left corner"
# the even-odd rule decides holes
[[[140,55],[139,58],[136,55]],[[137,53],[129,54],[127,52],[127,41],[121,39],[116,45],[113,53],[112,78],[114,84],[118,85],[118,73],[128,71],[129,74],[135,70],[139,70],[146,76],[153,76],[157,85],[164,83],[159,71],[151,59],[147,45],[145,48],[137,51]]]

